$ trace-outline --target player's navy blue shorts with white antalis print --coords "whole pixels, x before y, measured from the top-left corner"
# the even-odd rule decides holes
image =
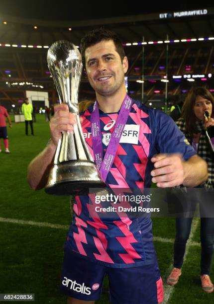
[[[108,275],[110,303],[157,304],[163,302],[163,283],[157,263],[133,268],[106,267],[65,245],[60,290],[68,297],[97,301]]]

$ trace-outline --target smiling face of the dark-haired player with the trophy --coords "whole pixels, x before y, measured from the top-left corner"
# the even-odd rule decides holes
[[[123,90],[127,57],[121,62],[112,40],[103,40],[85,51],[86,72],[94,90],[102,96],[111,96]]]

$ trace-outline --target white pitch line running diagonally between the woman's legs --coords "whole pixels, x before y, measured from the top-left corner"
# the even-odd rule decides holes
[[[196,229],[197,229],[197,227],[198,227],[198,224],[199,224],[199,218],[193,219],[192,227],[191,227],[191,232],[190,232],[190,237],[189,237],[189,239],[188,239],[188,241],[187,241],[187,244],[186,244],[186,251],[185,251],[185,255],[184,255],[184,263],[185,263],[185,261],[186,261],[187,255],[188,255],[188,253],[189,253],[189,248],[190,248],[190,246],[192,246],[193,244],[194,244],[194,245],[196,244],[196,242],[193,242],[192,239],[193,239],[193,237],[194,237],[194,234],[195,234],[195,232],[196,232]],[[184,263],[183,263],[183,264],[184,264]],[[164,287],[164,302],[163,302],[163,304],[167,304],[167,303],[170,301],[170,299],[171,299],[171,297],[172,297],[172,295],[173,295],[173,293],[174,293],[174,291],[175,291],[174,286],[168,285],[168,284],[166,283],[167,276],[169,275],[169,273],[170,273],[170,271],[172,270],[172,268],[173,268],[173,264],[171,264],[171,265],[169,266],[169,268],[168,268],[168,270],[166,271],[165,276],[164,276],[164,285],[163,285],[163,287]]]

